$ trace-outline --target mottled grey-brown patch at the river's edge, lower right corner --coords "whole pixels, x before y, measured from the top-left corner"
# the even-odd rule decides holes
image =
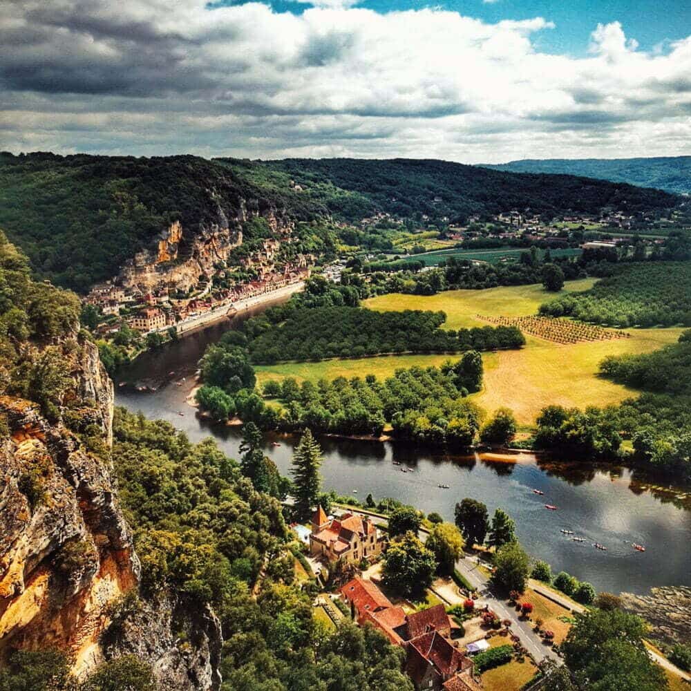
[[[650,595],[622,593],[624,609],[642,616],[665,643],[691,641],[691,588],[651,588]]]

